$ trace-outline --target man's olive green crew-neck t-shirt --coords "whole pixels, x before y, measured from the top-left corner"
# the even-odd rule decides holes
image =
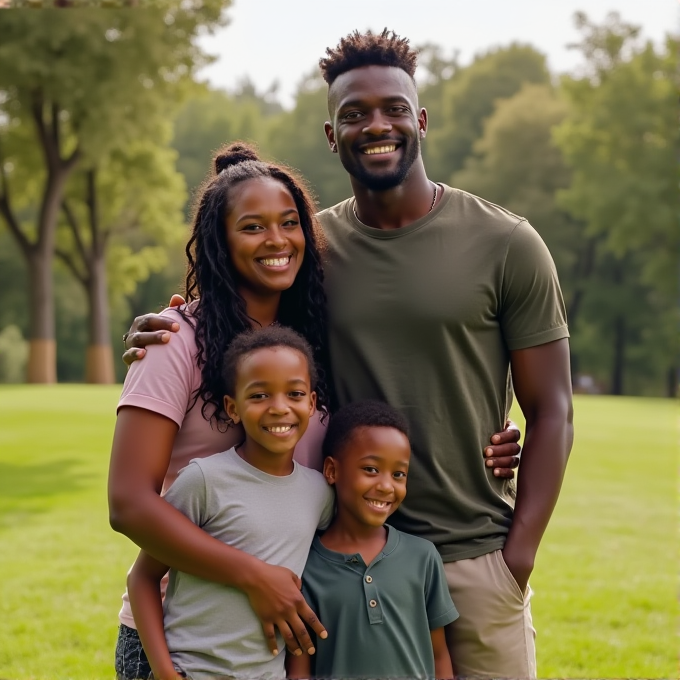
[[[444,187],[396,230],[362,224],[354,198],[319,214],[340,404],[379,399],[408,418],[408,493],[390,523],[445,561],[503,547],[514,482],[483,449],[510,407],[510,351],[569,336],[553,260],[522,217]]]

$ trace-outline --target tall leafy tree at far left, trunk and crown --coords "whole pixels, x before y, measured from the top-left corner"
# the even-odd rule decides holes
[[[28,265],[30,382],[56,380],[52,263],[69,177],[153,133],[206,61],[192,38],[224,4],[82,9],[77,21],[52,9],[0,13],[0,213]]]

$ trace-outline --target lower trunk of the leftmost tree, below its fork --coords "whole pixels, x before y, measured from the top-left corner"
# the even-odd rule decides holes
[[[28,258],[31,334],[27,380],[57,382],[57,343],[54,335],[54,282],[52,252],[33,250]]]

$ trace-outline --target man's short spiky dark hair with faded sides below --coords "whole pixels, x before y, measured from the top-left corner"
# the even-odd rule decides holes
[[[338,76],[361,66],[395,66],[413,79],[418,63],[418,52],[409,45],[408,38],[386,28],[378,34],[354,31],[341,38],[337,47],[327,47],[326,55],[319,59],[319,67],[329,86]]]

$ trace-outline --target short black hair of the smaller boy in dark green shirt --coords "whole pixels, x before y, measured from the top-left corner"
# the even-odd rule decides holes
[[[382,401],[355,401],[331,417],[323,440],[323,457],[337,456],[360,427],[392,427],[408,438],[408,423],[396,408]]]

